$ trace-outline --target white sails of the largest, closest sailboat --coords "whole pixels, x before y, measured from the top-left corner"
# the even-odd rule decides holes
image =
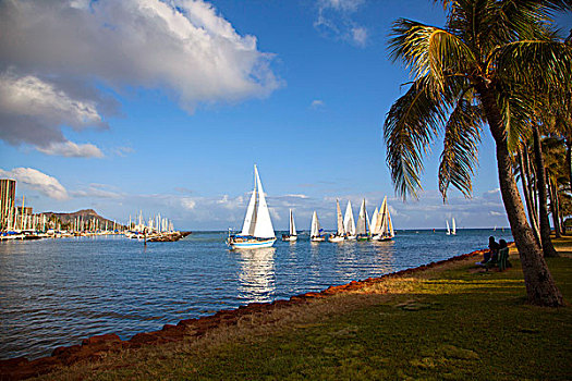
[[[257,238],[273,238],[275,230],[270,220],[270,212],[266,204],[263,183],[258,175],[258,169],[254,165],[254,190],[246,209],[246,217],[242,226],[242,235],[255,236]]]

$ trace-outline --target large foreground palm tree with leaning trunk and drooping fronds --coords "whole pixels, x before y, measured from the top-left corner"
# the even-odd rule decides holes
[[[526,221],[511,151],[526,130],[538,88],[571,76],[572,49],[550,28],[555,11],[570,0],[441,0],[443,28],[400,19],[390,40],[414,81],[388,112],[384,136],[395,189],[416,197],[429,145],[445,132],[439,189],[471,196],[473,169],[486,122],[496,144],[499,185],[521,263],[528,302],[562,306],[543,249]]]

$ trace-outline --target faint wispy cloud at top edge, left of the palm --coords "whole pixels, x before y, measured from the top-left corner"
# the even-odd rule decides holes
[[[318,0],[318,15],[314,27],[324,37],[364,47],[368,37],[367,29],[353,19],[353,14],[364,3],[365,0]]]

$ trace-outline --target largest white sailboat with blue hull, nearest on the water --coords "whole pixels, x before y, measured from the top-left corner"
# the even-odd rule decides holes
[[[276,241],[270,212],[266,204],[258,169],[254,165],[254,189],[244,217],[240,235],[230,235],[227,241],[232,248],[270,247]]]

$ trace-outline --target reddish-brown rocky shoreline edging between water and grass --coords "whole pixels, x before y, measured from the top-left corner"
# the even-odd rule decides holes
[[[212,316],[181,320],[177,325],[165,324],[159,331],[137,333],[130,340],[121,340],[114,333],[96,335],[83,340],[82,344],[60,346],[53,349],[51,356],[28,360],[25,357],[0,360],[0,380],[22,380],[41,376],[53,371],[57,367],[71,366],[80,361],[97,361],[107,356],[109,352],[126,348],[138,348],[144,345],[160,345],[178,342],[187,337],[200,337],[207,332],[222,325],[235,325],[244,316],[267,314],[275,309],[287,308],[293,305],[308,303],[315,298],[325,298],[340,293],[355,292],[364,286],[379,282],[398,279],[428,269],[440,267],[445,263],[465,260],[483,255],[485,250],[476,250],[449,259],[430,262],[412,269],[389,273],[379,278],[368,278],[363,281],[352,281],[339,286],[330,286],[321,292],[309,292],[292,296],[290,299],[275,300],[272,303],[251,303],[238,309],[220,310]]]

